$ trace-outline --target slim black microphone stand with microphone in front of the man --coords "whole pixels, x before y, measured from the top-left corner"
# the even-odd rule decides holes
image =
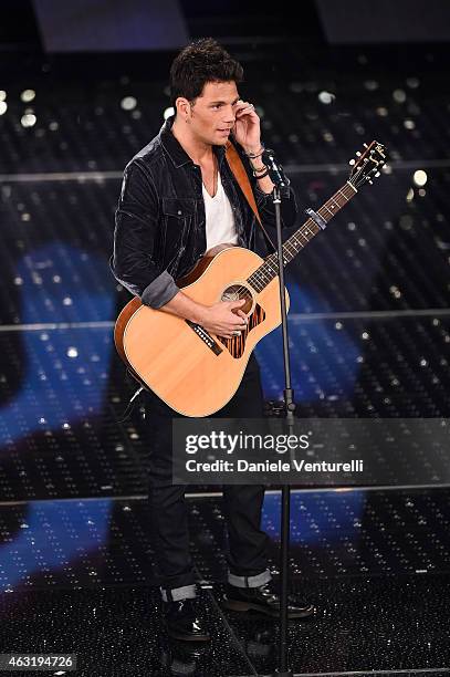
[[[281,235],[281,188],[289,185],[283,174],[281,165],[276,163],[273,150],[264,150],[262,160],[268,167],[269,176],[274,184],[272,191],[273,204],[275,207],[276,221],[276,254],[279,262],[280,282],[280,304],[281,304],[281,327],[283,334],[283,361],[284,361],[284,406],[286,410],[286,423],[289,434],[293,433],[294,426],[294,392],[291,385],[291,363],[289,352],[287,335],[287,311],[286,296],[284,290],[284,264],[283,264],[283,242]],[[282,485],[281,488],[281,595],[280,595],[280,666],[272,677],[293,677],[292,670],[287,666],[287,595],[289,595],[289,545],[290,545],[290,511],[291,511],[291,487]]]

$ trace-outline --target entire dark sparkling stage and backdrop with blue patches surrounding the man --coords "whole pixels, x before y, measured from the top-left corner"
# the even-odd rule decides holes
[[[307,0],[293,12],[1,3],[0,653],[73,652],[80,675],[102,677],[276,665],[276,627],[226,621],[217,605],[217,488],[189,490],[217,639],[197,654],[165,644],[145,500],[151,440],[139,404],[118,423],[135,385],[113,342],[130,299],[108,269],[114,210],[188,40],[216,37],[243,63],[241,92],[302,208],[345,183],[363,143],[388,147],[381,177],[289,269],[297,415],[450,416],[450,7]],[[280,332],[257,355],[273,415]],[[318,608],[290,629],[295,674],[448,674],[450,493],[439,472],[425,483],[293,492],[293,585]],[[273,489],[263,528],[275,573],[279,519]]]

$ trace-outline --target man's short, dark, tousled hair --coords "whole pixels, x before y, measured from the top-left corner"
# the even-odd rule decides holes
[[[170,66],[170,97],[188,101],[201,95],[207,82],[242,82],[243,67],[212,38],[186,46]]]

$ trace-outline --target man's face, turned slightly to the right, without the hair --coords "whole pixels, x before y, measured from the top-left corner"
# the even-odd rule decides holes
[[[208,82],[189,106],[189,127],[200,142],[223,146],[236,119],[239,94],[236,82]]]

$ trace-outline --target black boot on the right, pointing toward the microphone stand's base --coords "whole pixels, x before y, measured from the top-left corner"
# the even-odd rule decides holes
[[[268,616],[280,615],[280,596],[271,590],[270,583],[260,587],[237,587],[227,585],[222,606],[237,612],[260,612]],[[306,618],[314,613],[312,604],[297,604],[287,598],[287,618]]]

